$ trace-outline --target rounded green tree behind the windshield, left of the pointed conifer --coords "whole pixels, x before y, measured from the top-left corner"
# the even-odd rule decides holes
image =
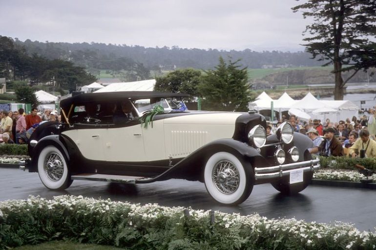
[[[169,72],[165,77],[156,77],[155,91],[168,93],[185,93],[191,97],[198,96],[197,86],[200,83],[201,71],[195,69],[178,69]]]

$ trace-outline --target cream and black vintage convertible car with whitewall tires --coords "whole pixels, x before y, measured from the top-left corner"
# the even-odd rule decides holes
[[[157,92],[91,93],[61,101],[62,123],[40,125],[20,168],[38,172],[51,190],[75,179],[150,183],[199,180],[216,201],[245,201],[253,185],[271,183],[293,194],[311,182],[319,160],[306,135],[284,122],[266,136],[255,112],[189,111],[187,95]],[[120,121],[123,104],[133,118]],[[124,114],[124,113],[123,113]]]

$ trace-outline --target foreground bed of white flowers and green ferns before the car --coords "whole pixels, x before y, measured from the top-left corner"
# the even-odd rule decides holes
[[[375,249],[376,232],[62,195],[0,202],[0,248],[71,240],[132,249]]]

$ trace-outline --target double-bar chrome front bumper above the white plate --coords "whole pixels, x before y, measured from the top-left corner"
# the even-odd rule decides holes
[[[274,179],[287,176],[297,169],[302,169],[304,172],[314,172],[319,168],[320,159],[314,159],[266,168],[254,168],[254,176],[256,180]]]

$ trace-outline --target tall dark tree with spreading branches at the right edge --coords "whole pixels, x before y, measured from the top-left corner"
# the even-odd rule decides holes
[[[303,45],[313,58],[327,61],[323,66],[334,65],[334,99],[343,100],[345,84],[359,70],[376,65],[376,43],[369,40],[376,35],[376,1],[308,0],[292,10],[313,18],[303,33],[309,36]],[[345,80],[344,71],[352,72]]]

